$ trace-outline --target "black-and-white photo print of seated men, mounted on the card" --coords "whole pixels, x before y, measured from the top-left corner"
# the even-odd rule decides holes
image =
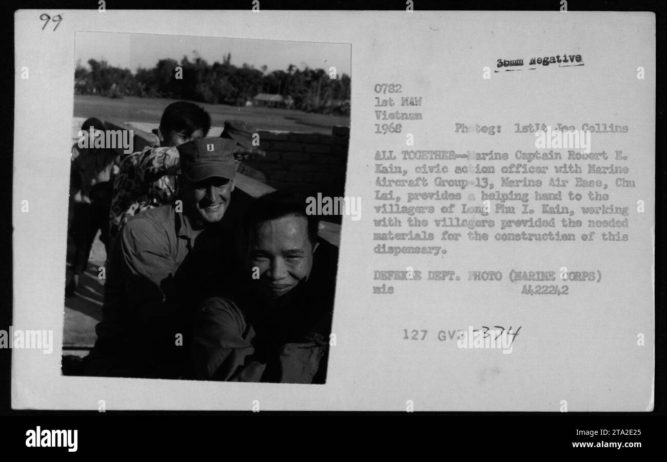
[[[350,44],[75,42],[63,375],[325,383]]]

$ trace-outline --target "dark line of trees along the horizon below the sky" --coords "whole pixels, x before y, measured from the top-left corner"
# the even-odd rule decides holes
[[[298,69],[289,65],[284,71],[269,72],[266,66],[255,69],[223,62],[209,65],[196,57],[160,59],[155,67],[129,69],[113,67],[106,61],[89,59],[90,70],[77,63],[74,71],[75,94],[108,97],[158,97],[185,99],[201,103],[245,105],[259,93],[281,95],[294,107],[307,112],[350,113],[350,76],[330,77],[324,69]]]

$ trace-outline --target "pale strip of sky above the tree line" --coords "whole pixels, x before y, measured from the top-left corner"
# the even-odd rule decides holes
[[[109,65],[130,69],[155,67],[159,59],[190,61],[197,57],[212,65],[222,62],[231,53],[231,63],[248,63],[268,71],[285,70],[290,64],[299,69],[325,69],[335,66],[339,74],[350,74],[349,43],[315,43],[277,40],[225,39],[219,37],[190,37],[183,35],[129,34],[111,32],[77,32],[75,63],[87,67],[89,59],[107,61]]]

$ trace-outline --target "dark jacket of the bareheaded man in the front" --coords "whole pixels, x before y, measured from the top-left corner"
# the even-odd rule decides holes
[[[244,287],[197,311],[197,379],[324,383],[338,249],[320,240],[307,280],[277,299]]]

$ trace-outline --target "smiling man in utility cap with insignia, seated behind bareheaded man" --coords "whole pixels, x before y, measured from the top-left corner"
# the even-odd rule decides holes
[[[88,375],[179,378],[187,374],[187,307],[203,296],[199,275],[207,259],[233,255],[233,235],[224,227],[205,233],[221,221],[234,189],[234,141],[200,138],[177,146],[181,162],[178,200],[129,219],[116,239],[107,263],[102,321],[87,359]],[[179,201],[182,204],[179,204]],[[182,207],[179,207],[182,205]],[[213,231],[213,229],[211,229]],[[209,237],[215,239],[208,239]],[[215,253],[217,243],[223,251]],[[231,265],[215,273],[229,279]],[[184,340],[187,345],[187,340]]]

